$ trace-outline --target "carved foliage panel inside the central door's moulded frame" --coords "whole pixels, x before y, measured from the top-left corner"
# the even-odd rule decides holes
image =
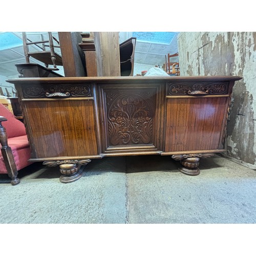
[[[155,89],[105,92],[109,146],[152,145]]]

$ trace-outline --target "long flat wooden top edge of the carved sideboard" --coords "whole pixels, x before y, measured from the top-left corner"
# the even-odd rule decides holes
[[[145,81],[237,81],[241,76],[121,76],[121,77],[51,77],[51,78],[14,78],[10,83],[37,82],[145,82]]]

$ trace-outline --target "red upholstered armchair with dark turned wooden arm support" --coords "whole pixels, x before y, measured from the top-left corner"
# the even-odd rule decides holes
[[[31,153],[24,123],[3,104],[0,104],[0,143],[0,174],[8,174],[11,184],[16,185],[20,182],[18,170],[31,164],[28,162]]]

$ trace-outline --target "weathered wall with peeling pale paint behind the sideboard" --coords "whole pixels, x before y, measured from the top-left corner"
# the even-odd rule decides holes
[[[181,75],[238,75],[227,125],[227,154],[256,169],[256,32],[181,32]]]

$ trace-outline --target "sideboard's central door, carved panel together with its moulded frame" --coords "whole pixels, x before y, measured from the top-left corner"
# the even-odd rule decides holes
[[[161,111],[158,84],[98,84],[102,148],[108,152],[156,151]]]

